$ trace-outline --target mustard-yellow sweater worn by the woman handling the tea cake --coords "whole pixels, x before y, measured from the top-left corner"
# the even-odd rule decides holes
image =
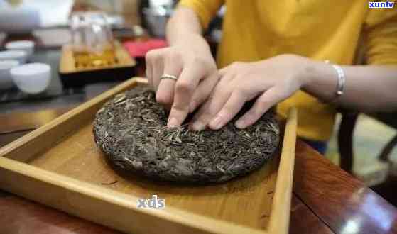
[[[207,28],[222,4],[219,68],[284,53],[352,65],[361,31],[369,64],[397,64],[397,6],[369,9],[364,0],[181,0],[179,6],[193,9]],[[285,116],[290,106],[299,108],[300,136],[330,138],[335,108],[303,91],[278,104],[278,113]]]

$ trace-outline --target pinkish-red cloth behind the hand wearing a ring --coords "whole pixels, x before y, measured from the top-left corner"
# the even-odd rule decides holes
[[[131,57],[145,57],[149,50],[165,48],[168,43],[162,39],[150,39],[144,41],[127,41],[124,48],[129,52]]]

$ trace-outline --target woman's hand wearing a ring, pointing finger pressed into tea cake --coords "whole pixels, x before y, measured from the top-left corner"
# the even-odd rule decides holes
[[[161,79],[163,74],[178,77]],[[156,101],[170,108],[168,127],[180,126],[210,96],[218,82],[217,65],[201,35],[185,35],[168,48],[146,55],[146,76]]]

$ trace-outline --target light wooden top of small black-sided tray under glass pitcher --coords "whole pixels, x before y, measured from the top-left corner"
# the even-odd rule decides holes
[[[114,54],[116,56],[116,63],[110,66],[98,66],[98,67],[78,67],[73,56],[71,45],[62,46],[62,55],[60,57],[59,72],[61,74],[71,74],[77,72],[92,72],[102,69],[118,69],[126,67],[134,67],[136,61],[132,58],[126,49],[119,43],[114,41]]]

